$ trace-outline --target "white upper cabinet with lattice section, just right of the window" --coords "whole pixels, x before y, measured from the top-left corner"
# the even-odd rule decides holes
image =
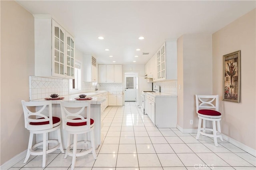
[[[83,54],[83,81],[85,82],[97,82],[97,62],[91,54]]]

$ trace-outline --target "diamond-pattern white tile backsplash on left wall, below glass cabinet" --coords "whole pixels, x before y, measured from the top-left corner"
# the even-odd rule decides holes
[[[82,82],[80,91],[68,91],[68,81],[68,79],[29,76],[29,99],[44,99],[50,97],[53,93],[64,96],[95,90],[95,87],[92,87],[92,83]]]

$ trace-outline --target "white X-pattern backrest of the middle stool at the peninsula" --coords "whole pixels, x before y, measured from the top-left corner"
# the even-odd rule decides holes
[[[60,101],[63,128],[70,130],[70,126],[67,123],[79,124],[86,122],[86,125],[79,125],[80,130],[90,129],[90,106],[90,102],[72,103]],[[82,115],[85,113],[86,117]]]

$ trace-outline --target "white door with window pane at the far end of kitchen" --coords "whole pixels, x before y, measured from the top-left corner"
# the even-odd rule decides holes
[[[136,101],[136,77],[125,75],[124,101]]]

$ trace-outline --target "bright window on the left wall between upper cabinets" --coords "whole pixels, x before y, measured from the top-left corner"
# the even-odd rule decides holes
[[[74,79],[70,79],[70,91],[81,90],[81,63],[75,61]]]

